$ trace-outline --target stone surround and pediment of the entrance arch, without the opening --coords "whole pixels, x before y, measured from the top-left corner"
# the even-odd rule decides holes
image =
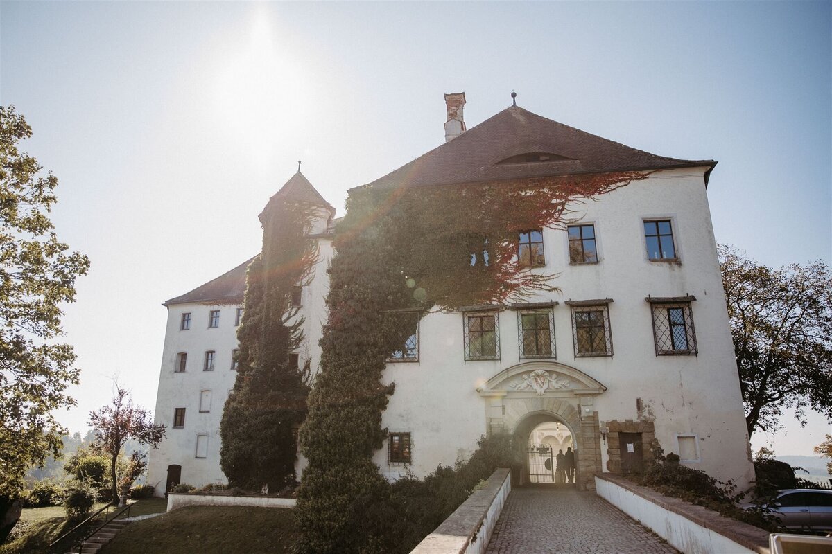
[[[601,429],[594,399],[607,387],[581,370],[552,361],[513,365],[478,388],[485,400],[488,434],[523,434],[542,421],[561,421],[572,433],[577,488],[595,488],[602,470]],[[529,427],[526,429],[526,427]]]

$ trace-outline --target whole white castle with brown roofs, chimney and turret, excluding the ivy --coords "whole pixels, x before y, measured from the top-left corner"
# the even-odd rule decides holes
[[[517,106],[466,130],[464,94],[446,95],[446,142],[372,183],[414,187],[639,171],[572,206],[566,229],[518,230],[518,256],[557,275],[561,292],[523,304],[431,313],[391,354],[389,429],[375,453],[390,479],[423,477],[508,431],[526,447],[522,481],[552,482],[558,450],[575,452],[577,483],[649,458],[657,439],[681,463],[740,486],[754,478],[706,188],[713,160],[672,159],[590,135]],[[320,360],[325,268],[334,209],[298,172],[275,199],[321,207],[319,261],[295,303],[305,316],[299,363]],[[267,208],[268,209],[268,208]],[[262,218],[262,215],[261,215]],[[245,267],[165,302],[148,483],[225,483],[220,418],[235,380]],[[297,468],[302,469],[299,459]]]

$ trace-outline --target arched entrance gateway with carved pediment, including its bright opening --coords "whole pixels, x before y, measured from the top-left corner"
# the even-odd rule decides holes
[[[568,442],[575,455],[577,488],[595,488],[592,475],[602,468],[595,397],[605,390],[581,370],[552,361],[513,365],[479,387],[488,434],[511,433],[518,450],[522,449],[524,467],[513,480],[518,484],[557,482],[557,474],[552,475],[557,449]]]

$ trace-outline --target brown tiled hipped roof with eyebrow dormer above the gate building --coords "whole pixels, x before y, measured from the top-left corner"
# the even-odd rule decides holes
[[[523,154],[555,154],[518,161]],[[502,162],[502,164],[501,164]],[[462,135],[364,186],[419,187],[612,171],[701,167],[712,159],[675,159],[612,140],[512,106]]]

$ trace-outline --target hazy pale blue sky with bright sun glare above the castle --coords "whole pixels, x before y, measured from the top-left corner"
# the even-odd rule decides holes
[[[92,260],[64,318],[82,385],[153,408],[161,302],[260,250],[295,173],[346,190],[511,104],[632,147],[719,161],[716,239],[832,259],[830,2],[0,2],[0,103],[57,175],[59,238]],[[811,454],[820,416],[770,439]],[[766,437],[755,438],[755,447]]]

